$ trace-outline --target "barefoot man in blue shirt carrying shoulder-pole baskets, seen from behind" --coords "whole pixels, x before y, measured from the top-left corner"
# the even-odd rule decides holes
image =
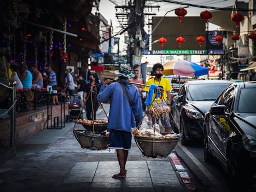
[[[110,100],[109,148],[116,149],[120,166],[120,173],[112,177],[124,179],[126,177],[125,164],[132,142],[131,128],[139,126],[143,113],[138,89],[133,84],[122,83],[128,82],[134,74],[127,66],[121,66],[115,74],[119,76],[120,83],[109,84],[112,82],[110,79],[104,81],[97,99],[99,102]]]

